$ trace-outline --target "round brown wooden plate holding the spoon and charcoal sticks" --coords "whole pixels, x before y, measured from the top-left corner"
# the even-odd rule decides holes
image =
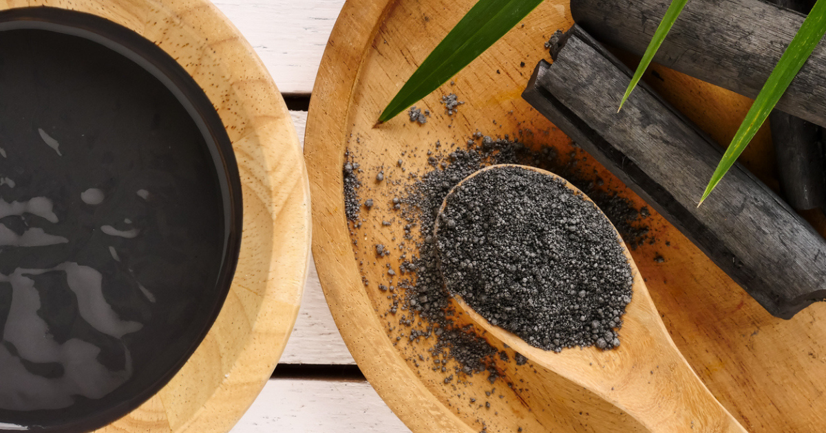
[[[467,379],[468,384],[445,385],[443,374],[422,365],[417,355],[427,356],[430,343],[394,344],[406,328],[391,331],[398,319],[384,317],[390,301],[375,282],[382,281],[387,264],[396,269],[398,260],[395,254],[378,258],[373,246],[403,234],[398,224],[381,224],[382,217],[392,216],[382,194],[410,182],[394,167],[401,151],[418,148],[418,158],[405,160],[407,170],[416,172],[428,167],[422,155],[437,140],[463,144],[477,129],[511,137],[529,129],[533,134],[524,135],[527,144],[553,145],[561,155],[573,149],[567,137],[520,98],[534,65],[549,57],[544,42],[553,31],[572,25],[563,0],[542,3],[459,73],[453,86],[446,84],[416,104],[434,113],[427,124],[411,124],[399,115],[373,129],[404,80],[472,4],[349,0],[339,16],[316,80],[305,147],[314,254],[330,309],[359,367],[413,431],[643,431],[626,414],[555,374],[530,363],[516,366],[513,356],[496,361],[504,376],[494,385],[494,398],[487,398],[491,384],[482,376]],[[647,79],[659,92],[714,139],[728,143],[748,111],[748,99],[665,68],[654,72]],[[450,92],[467,102],[453,117],[444,115],[439,104],[439,97]],[[344,214],[342,164],[348,148],[365,170],[361,199],[378,204],[363,212],[366,221],[355,232],[358,238],[351,237]],[[770,155],[764,129],[741,161],[775,186]],[[644,205],[591,158],[579,163],[594,167],[606,186],[619,188],[638,207]],[[386,181],[377,183],[373,178],[382,166]],[[392,185],[396,181],[399,185]],[[809,216],[815,222],[822,219]],[[773,318],[658,214],[647,224],[657,241],[638,247],[634,260],[676,345],[720,402],[749,431],[822,431],[826,305],[813,305],[790,321]],[[657,255],[664,261],[655,260]],[[362,277],[373,283],[365,286]],[[501,342],[486,338],[502,349]],[[491,407],[479,404],[486,401]]]

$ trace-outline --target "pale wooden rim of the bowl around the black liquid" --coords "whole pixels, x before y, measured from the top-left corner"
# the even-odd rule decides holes
[[[112,432],[229,431],[266,384],[295,322],[309,256],[309,193],[295,130],[252,47],[205,0],[0,0],[93,13],[172,55],[204,89],[235,149],[244,231],[235,279],[201,346]]]

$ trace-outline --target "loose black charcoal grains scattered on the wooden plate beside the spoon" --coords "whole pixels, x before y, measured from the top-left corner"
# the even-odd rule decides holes
[[[577,154],[579,152],[579,154]],[[384,215],[381,228],[394,229],[392,237],[396,241],[385,242],[384,252],[390,254],[377,257],[370,246],[367,257],[362,257],[364,266],[387,266],[392,259],[398,261],[396,275],[389,273],[377,281],[364,281],[377,287],[379,293],[387,297],[387,308],[382,316],[387,318],[388,335],[394,344],[415,347],[424,344],[428,362],[436,362],[432,367],[443,372],[444,377],[455,374],[453,382],[467,380],[476,374],[486,374],[487,380],[494,384],[501,371],[497,365],[501,356],[496,356],[496,348],[490,346],[483,337],[477,337],[472,326],[463,322],[454,322],[451,295],[444,289],[442,273],[439,270],[439,257],[434,242],[434,224],[436,214],[445,195],[466,176],[491,164],[523,164],[540,167],[563,176],[580,190],[595,200],[600,208],[619,230],[626,245],[634,247],[653,242],[646,219],[634,204],[618,195],[610,186],[606,186],[596,176],[591,167],[580,164],[582,151],[558,154],[553,147],[533,150],[507,138],[493,139],[477,132],[468,137],[467,147],[451,144],[427,146],[426,153],[411,149],[401,151],[386,164],[361,167],[360,153],[349,150],[344,155],[344,197],[350,230],[355,243],[363,238],[365,223],[370,221],[367,215],[380,210],[385,205],[392,206],[391,215]],[[567,158],[566,158],[567,157]],[[402,159],[390,163],[396,158]],[[415,168],[417,158],[426,160],[425,168]],[[406,172],[401,169],[407,167]],[[391,186],[391,191],[377,194],[371,191],[369,182],[363,179],[367,172],[383,170]],[[404,182],[395,186],[397,181]],[[395,186],[395,187],[393,187]],[[363,197],[362,197],[363,196]],[[372,209],[367,202],[373,200]],[[362,205],[363,203],[363,205]],[[382,205],[385,204],[385,205]],[[361,213],[359,214],[359,209]],[[390,224],[384,224],[387,221]],[[377,223],[377,221],[376,221]],[[402,234],[403,233],[403,234]],[[425,342],[430,341],[430,342]],[[416,348],[415,351],[424,349]],[[415,355],[413,362],[421,360]],[[511,360],[515,365],[525,365],[525,356],[514,353]],[[455,364],[453,363],[455,361]]]

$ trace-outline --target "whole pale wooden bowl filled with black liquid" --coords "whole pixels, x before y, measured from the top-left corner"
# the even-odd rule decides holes
[[[41,379],[49,377],[53,383],[60,381],[61,387],[69,384],[73,391],[55,400],[36,386],[12,386],[29,400],[16,402],[8,392],[0,395],[0,402],[7,398],[0,411],[0,431],[229,431],[272,374],[297,317],[306,278],[310,241],[306,171],[278,88],[249,44],[207,1],[0,2],[0,35],[7,43],[0,55],[5,61],[0,79],[30,89],[17,93],[12,86],[3,89],[17,96],[11,99],[17,101],[16,107],[3,108],[7,123],[0,130],[5,139],[12,139],[12,144],[0,145],[5,147],[4,167],[21,167],[11,173],[17,175],[17,186],[3,186],[11,188],[4,198],[19,201],[18,195],[31,198],[46,188],[46,201],[52,200],[50,192],[60,197],[54,200],[55,212],[51,213],[51,203],[47,212],[43,206],[35,209],[31,200],[25,212],[40,219],[26,219],[26,224],[54,224],[55,233],[93,228],[77,242],[61,232],[68,239],[42,246],[11,244],[28,250],[54,244],[62,248],[59,251],[7,252],[14,266],[26,268],[21,275],[55,274],[48,277],[58,283],[66,280],[78,301],[68,291],[69,298],[59,300],[55,294],[61,289],[32,283],[40,290],[35,302],[42,316],[34,322],[41,320],[44,327],[48,322],[44,332],[51,335],[45,340],[55,343],[60,361],[43,360],[31,348],[36,345],[26,345],[29,355],[20,353],[30,364],[14,361],[20,346],[4,341],[0,355],[11,357],[6,355],[0,364],[25,365],[32,378],[48,382]],[[29,45],[31,49],[21,48]],[[73,51],[74,47],[83,48]],[[37,50],[45,54],[27,54]],[[10,63],[17,68],[9,68]],[[16,72],[26,68],[33,71],[31,75]],[[83,79],[88,86],[78,85]],[[26,96],[34,102],[29,104]],[[43,126],[38,129],[38,125]],[[64,136],[51,137],[50,128]],[[34,139],[34,144],[16,144],[28,144],[26,139]],[[112,148],[116,145],[121,148]],[[208,177],[199,177],[203,167]],[[32,174],[27,175],[27,170]],[[216,180],[211,180],[216,174]],[[87,184],[83,182],[101,189],[81,193],[78,188]],[[151,187],[146,191],[138,185]],[[110,191],[114,192],[110,195]],[[207,198],[213,196],[223,200],[223,210],[219,201]],[[67,210],[75,206],[85,210],[79,214]],[[114,221],[116,214],[120,216]],[[12,215],[18,214],[12,211]],[[60,221],[55,215],[60,215]],[[187,215],[192,218],[182,218]],[[104,224],[101,216],[112,219],[113,225],[98,230]],[[200,219],[216,223],[201,224]],[[154,222],[146,223],[148,228],[140,228],[150,220]],[[118,229],[116,224],[135,228]],[[0,228],[8,239],[9,229]],[[54,235],[46,236],[54,241]],[[141,237],[144,240],[138,242]],[[133,243],[123,243],[133,238]],[[207,241],[212,238],[214,242]],[[151,242],[167,249],[152,250]],[[120,255],[112,245],[121,247]],[[135,245],[140,245],[140,252]],[[77,251],[85,254],[82,259],[74,258]],[[64,253],[81,264],[67,261]],[[20,265],[35,260],[63,262],[43,272],[30,269],[40,266]],[[94,269],[89,263],[115,271],[98,271],[104,268]],[[36,292],[19,283],[17,270],[2,275],[9,273],[9,263],[5,265],[0,283],[11,283],[14,289],[11,312],[17,311],[18,324],[0,323],[0,335],[4,325],[7,335],[14,327],[11,335],[19,342],[26,335],[20,331],[20,305],[29,301],[15,299]],[[89,280],[78,285],[72,278],[78,281],[80,276],[94,278],[95,274],[98,291],[103,279],[102,297],[89,301],[83,298],[88,295],[82,295],[95,290],[88,288]],[[147,278],[164,290],[152,294]],[[52,291],[43,295],[47,288]],[[5,293],[0,293],[4,299]],[[135,304],[138,298],[142,302]],[[0,304],[7,302],[4,299]],[[112,306],[117,307],[114,313]],[[59,315],[50,318],[47,310]],[[6,322],[5,317],[0,319]],[[107,349],[112,345],[122,349]],[[78,362],[78,354],[85,361]],[[112,374],[98,365],[124,377],[113,382]],[[118,372],[111,365],[124,367]],[[103,372],[84,382],[91,376],[78,372],[89,370]],[[105,393],[96,381],[108,381]],[[43,385],[43,389],[50,388]],[[49,402],[41,404],[44,400]],[[36,407],[26,407],[26,402],[36,402]]]

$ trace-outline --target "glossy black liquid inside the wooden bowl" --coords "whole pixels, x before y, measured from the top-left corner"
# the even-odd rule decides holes
[[[93,412],[171,368],[216,290],[223,209],[201,132],[149,73],[0,31],[0,423]]]

